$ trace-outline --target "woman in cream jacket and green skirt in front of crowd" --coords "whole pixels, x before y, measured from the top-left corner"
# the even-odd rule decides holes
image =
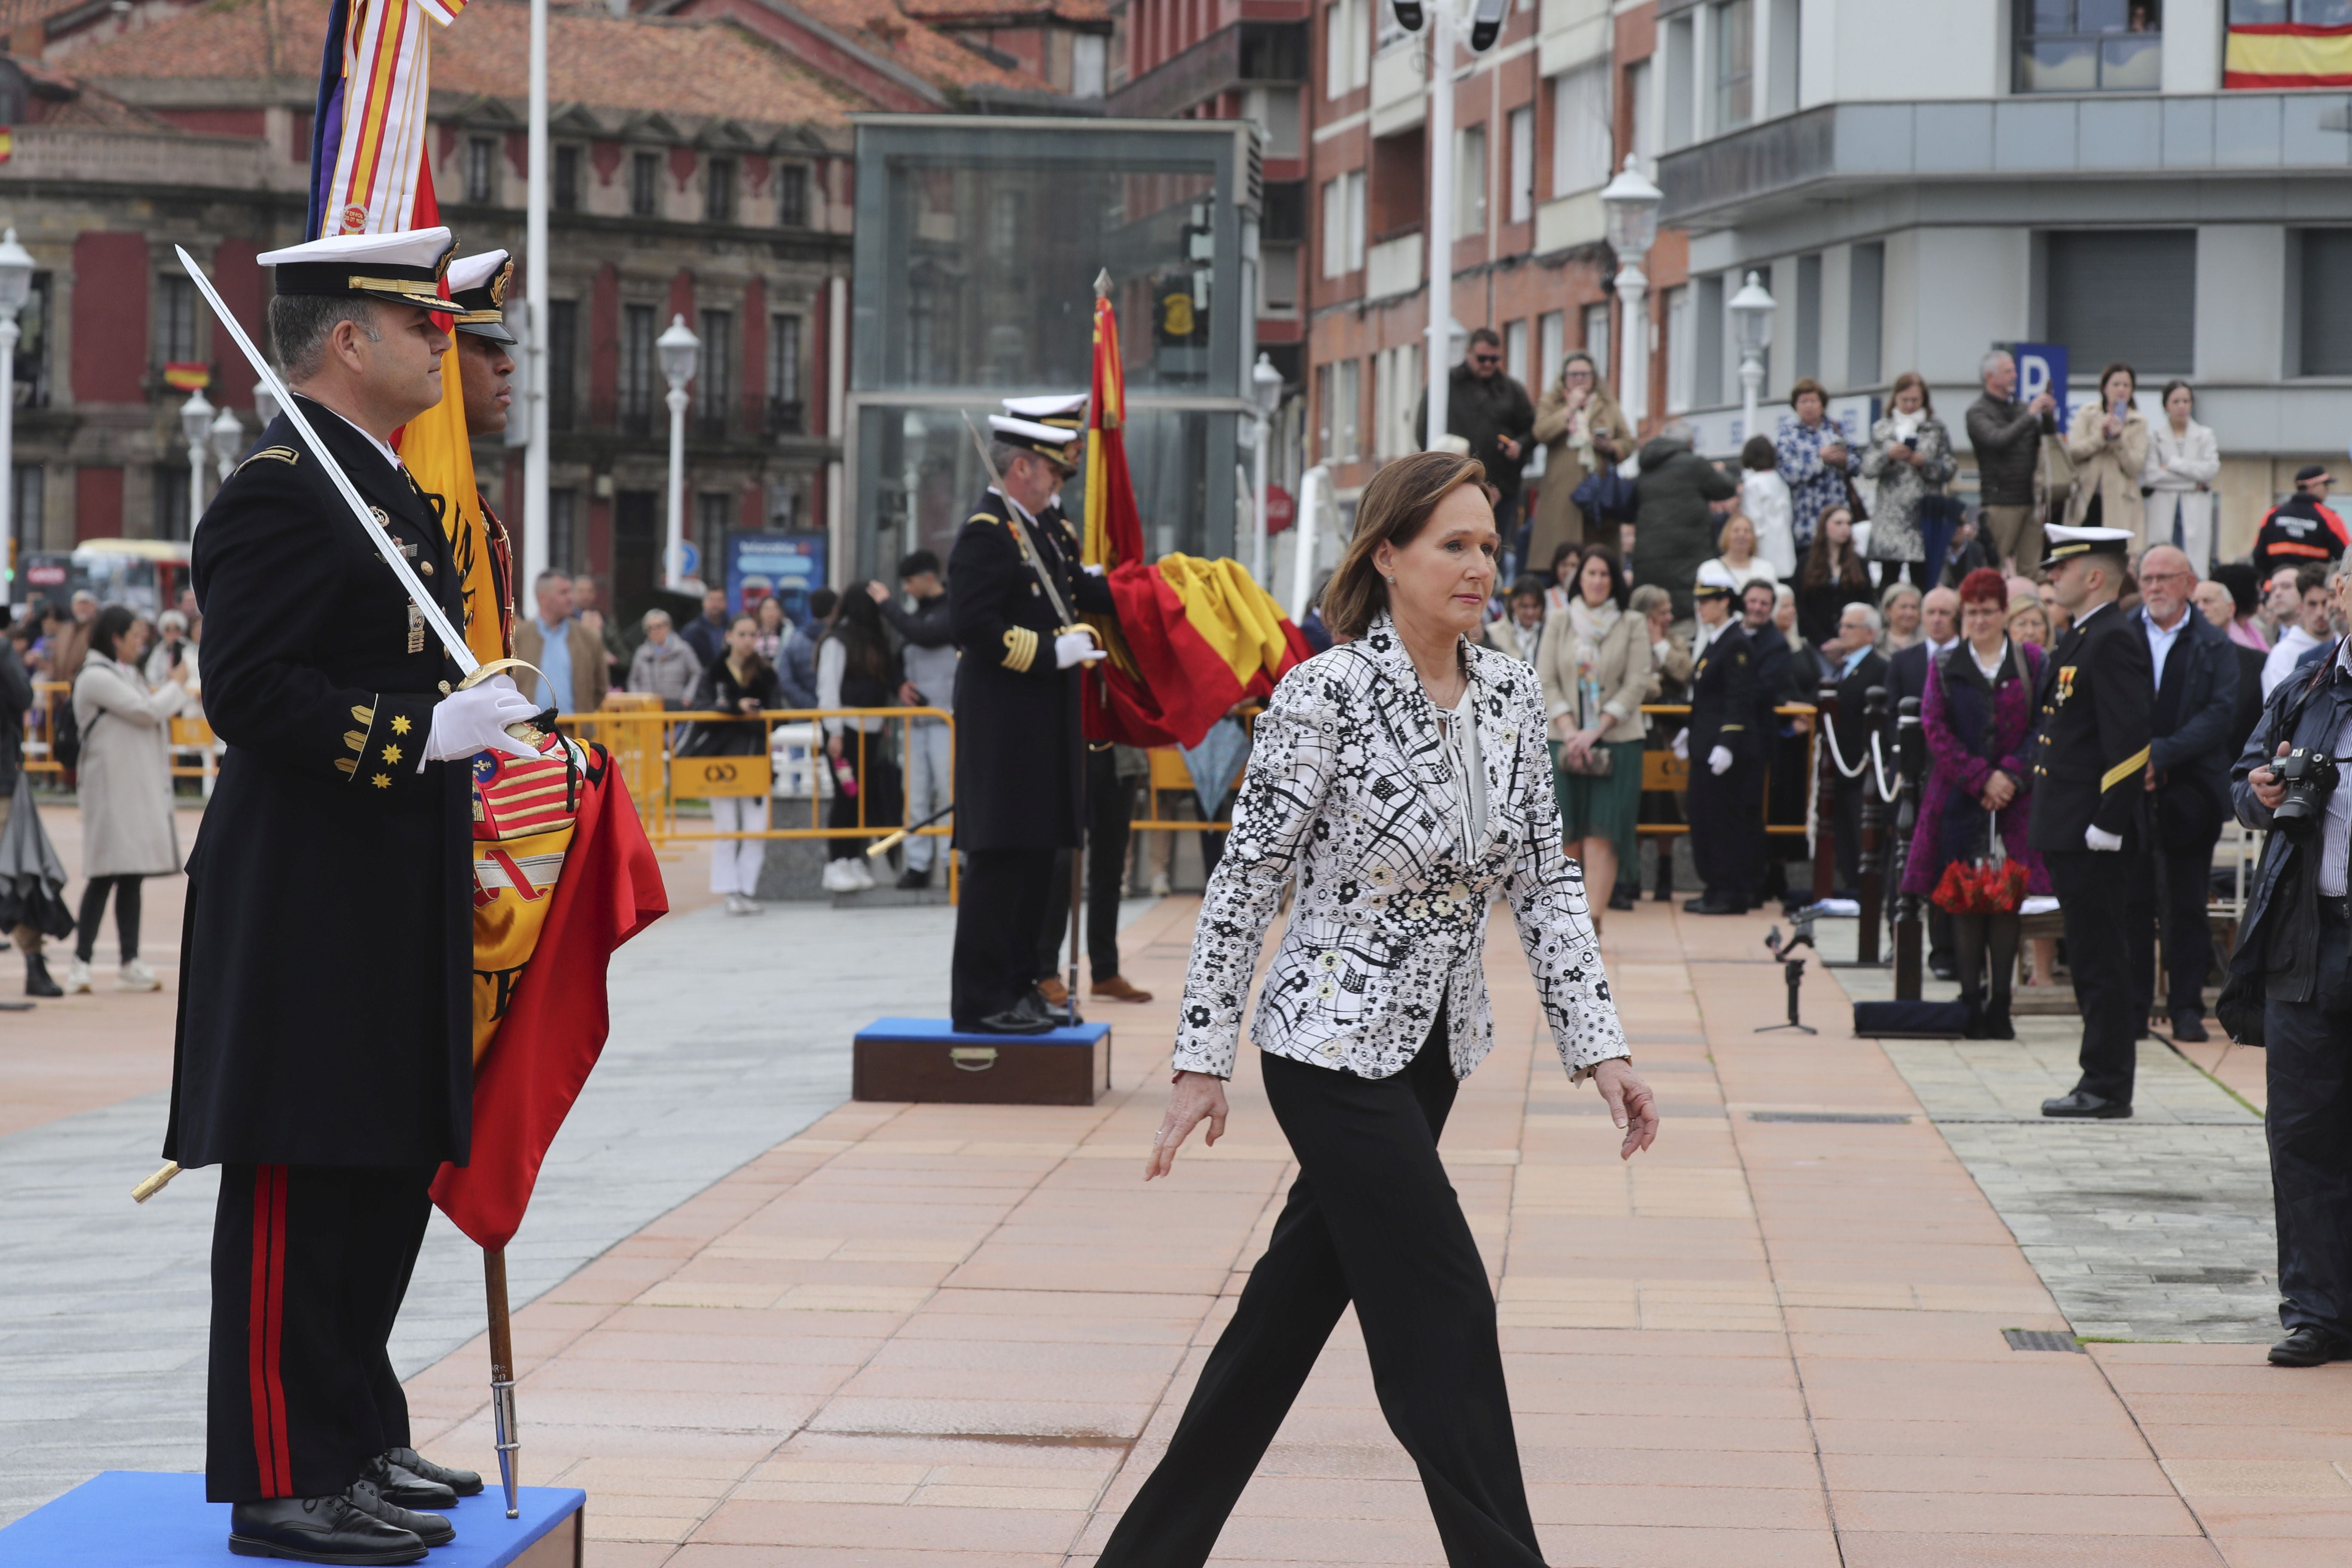
[[[1543,623],[1536,679],[1550,719],[1552,795],[1559,799],[1559,839],[1585,867],[1585,898],[1616,896],[1616,867],[1635,856],[1642,818],[1642,703],[1658,686],[1651,644],[1672,621],[1672,604],[1656,585],[1637,588],[1635,604],[1618,602],[1616,550],[1588,543],[1576,557],[1569,607]]]

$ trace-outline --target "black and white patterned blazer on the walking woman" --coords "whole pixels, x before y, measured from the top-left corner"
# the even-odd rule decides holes
[[[1461,649],[1486,773],[1486,825],[1468,858],[1437,710],[1385,614],[1275,686],[1192,931],[1176,1067],[1232,1074],[1249,978],[1294,872],[1289,929],[1249,1027],[1261,1051],[1385,1079],[1414,1060],[1444,1001],[1454,1077],[1470,1077],[1494,1046],[1482,954],[1501,889],[1571,1077],[1630,1056],[1583,872],[1559,851],[1543,689],[1515,658]]]

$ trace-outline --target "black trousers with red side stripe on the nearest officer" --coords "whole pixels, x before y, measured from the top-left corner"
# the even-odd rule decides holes
[[[205,1497],[327,1497],[409,1401],[383,1345],[433,1208],[433,1171],[221,1166],[212,1220]]]

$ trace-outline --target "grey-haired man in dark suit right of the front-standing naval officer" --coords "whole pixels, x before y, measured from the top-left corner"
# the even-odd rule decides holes
[[[2140,557],[2140,611],[2157,701],[2147,722],[2147,788],[2154,830],[2138,858],[2133,910],[2157,924],[2169,976],[2173,1039],[2206,1039],[2204,978],[2213,964],[2206,884],[2213,844],[2230,813],[2230,729],[2237,722],[2239,646],[2190,604],[2197,569],[2173,545]],[[2154,945],[2131,943],[2133,997],[2152,1004]]]

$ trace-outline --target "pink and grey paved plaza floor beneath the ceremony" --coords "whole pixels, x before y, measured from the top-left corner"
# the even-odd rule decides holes
[[[1141,1182],[1197,903],[1129,912],[1157,999],[1096,1009],[1094,1107],[844,1100],[863,1016],[943,1004],[946,910],[701,907],[626,950],[515,1244],[522,1472],[588,1490],[590,1563],[1091,1563],[1289,1180],[1244,1053],[1225,1143]],[[2343,1563],[2352,1366],[2260,1359],[2260,1058],[2154,1044],[2143,1119],[2049,1126],[2065,1020],[1882,1046],[1844,1018],[1882,976],[1816,969],[1823,1032],[1757,1032],[1783,1011],[1766,924],[1611,917],[1665,1110],[1630,1166],[1496,924],[1498,1046],[1444,1154],[1548,1561]],[[45,1084],[0,1124],[0,1519],[106,1465],[202,1460],[207,1187],[127,1199],[169,1067],[167,1009],[122,1023],[151,1001],[0,1018],[0,1105]],[[115,1044],[73,1067],[80,1032]],[[477,1279],[437,1227],[395,1349],[421,1446],[492,1469]],[[1352,1319],[1216,1561],[1442,1561]]]

